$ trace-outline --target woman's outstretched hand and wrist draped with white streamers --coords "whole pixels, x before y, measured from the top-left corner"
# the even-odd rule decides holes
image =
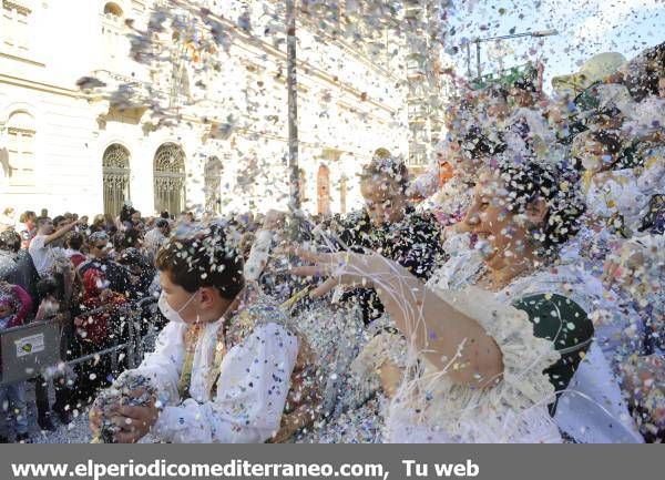
[[[297,248],[294,254],[314,265],[296,267],[293,275],[299,277],[329,277],[319,285],[310,296],[321,297],[332,290],[337,285],[362,286],[371,288],[381,275],[392,274],[392,262],[379,255],[362,255],[350,252],[334,254],[319,254]]]

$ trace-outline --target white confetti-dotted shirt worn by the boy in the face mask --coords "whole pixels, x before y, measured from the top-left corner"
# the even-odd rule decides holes
[[[195,344],[191,398],[183,401],[178,392],[187,325],[170,321],[155,351],[136,369],[151,379],[164,405],[152,429],[156,439],[250,443],[263,442],[279,429],[298,354],[297,337],[277,321],[259,323],[228,349],[217,369],[214,360],[224,321],[203,325]]]

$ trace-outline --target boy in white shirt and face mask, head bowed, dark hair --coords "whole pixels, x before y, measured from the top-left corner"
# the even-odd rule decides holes
[[[149,432],[182,443],[274,438],[299,359],[284,313],[246,286],[242,258],[215,225],[172,238],[156,266],[160,309],[170,323],[155,351],[130,371],[157,395],[145,407],[117,406],[106,415],[119,430],[114,441],[135,442]],[[95,433],[102,415],[98,406],[91,410]]]

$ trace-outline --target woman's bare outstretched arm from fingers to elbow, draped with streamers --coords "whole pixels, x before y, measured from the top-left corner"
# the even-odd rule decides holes
[[[494,339],[473,318],[460,313],[409,270],[379,255],[311,254],[298,251],[310,267],[299,276],[329,276],[313,296],[338,284],[374,286],[386,312],[418,351],[458,384],[485,387],[501,378],[503,361]]]

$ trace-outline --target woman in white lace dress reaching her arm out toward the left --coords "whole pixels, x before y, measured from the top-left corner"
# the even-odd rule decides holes
[[[584,411],[571,399],[556,402],[555,392],[569,388],[581,358],[592,353],[593,325],[571,286],[541,282],[549,288],[530,292],[532,284],[522,282],[545,275],[557,246],[576,232],[582,211],[572,178],[532,162],[503,162],[481,176],[464,222],[481,238],[484,268],[469,283],[482,288],[447,290],[438,286],[447,286],[441,277],[422,286],[377,255],[300,252],[316,265],[296,274],[330,276],[315,295],[340,283],[371,283],[409,340],[407,371],[387,410],[385,441],[555,442],[561,441],[559,427],[576,440],[602,441],[602,436],[576,430],[595,432],[603,422],[627,431],[618,441],[638,441],[630,426],[620,425],[593,398],[593,408]],[[355,369],[391,370],[395,340],[377,336]],[[602,367],[602,355],[600,360]],[[600,374],[608,371],[593,370],[591,377]],[[602,380],[616,388],[613,378]],[[610,400],[620,401],[617,388],[614,394]],[[556,409],[573,409],[576,417],[559,421],[551,416]],[[607,415],[594,417],[601,413]],[[593,421],[584,425],[589,418]]]

